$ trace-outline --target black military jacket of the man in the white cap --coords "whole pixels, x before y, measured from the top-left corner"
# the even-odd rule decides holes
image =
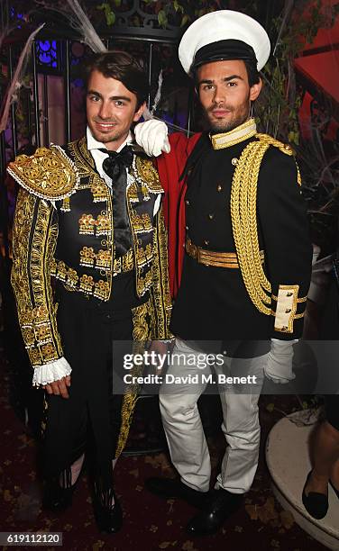
[[[232,182],[243,149],[252,140],[255,137],[215,150],[203,134],[188,158],[186,233],[197,247],[235,252]],[[188,340],[247,341],[300,337],[312,248],[295,159],[277,147],[270,147],[261,161],[256,214],[264,272],[271,284],[271,315],[252,303],[240,269],[205,266],[186,254],[170,325],[175,335]],[[289,286],[293,287],[295,312],[287,314],[287,327],[277,330],[279,290]]]

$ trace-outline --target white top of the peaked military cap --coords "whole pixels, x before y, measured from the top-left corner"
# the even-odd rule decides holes
[[[179,43],[179,60],[182,67],[190,73],[198,50],[209,44],[228,40],[242,41],[247,46],[251,46],[259,71],[269,59],[270,39],[260,23],[241,12],[218,10],[199,17],[183,34]],[[226,48],[224,45],[225,55],[220,54],[218,59],[243,59],[241,56],[237,58],[234,50],[232,54],[234,57],[230,57],[227,55]],[[206,59],[202,63],[213,60],[217,59]]]

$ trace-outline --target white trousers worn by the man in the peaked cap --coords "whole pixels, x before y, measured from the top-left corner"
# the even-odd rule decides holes
[[[169,366],[167,373],[180,377],[180,383],[162,384],[160,387],[160,411],[169,453],[181,481],[195,490],[207,492],[211,462],[197,400],[206,389],[201,374],[210,374],[211,368],[201,369],[201,353],[188,347],[181,339],[176,339],[173,355],[180,356],[177,363]],[[196,357],[196,362],[192,361],[193,357]],[[256,379],[252,380],[256,380],[256,384],[246,385],[246,393],[243,390],[240,392],[237,385],[219,385],[224,418],[222,429],[228,446],[216,488],[233,493],[247,492],[251,488],[259,458],[261,429],[258,400],[266,360],[267,354],[254,358],[224,357],[223,374],[254,375]],[[197,374],[197,383],[192,384],[191,379],[181,382],[184,375]]]

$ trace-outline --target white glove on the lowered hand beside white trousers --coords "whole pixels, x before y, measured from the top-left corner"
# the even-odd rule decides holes
[[[270,352],[263,371],[273,383],[287,384],[296,377],[292,371],[293,345],[296,342],[298,339],[271,339]]]

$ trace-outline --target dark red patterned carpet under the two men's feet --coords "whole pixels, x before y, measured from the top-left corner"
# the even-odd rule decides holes
[[[96,529],[86,473],[80,476],[70,510],[60,515],[41,511],[41,482],[36,467],[38,446],[10,404],[15,402],[10,393],[12,370],[4,356],[0,357],[0,373],[2,531],[61,531],[64,548],[84,551],[325,549],[298,528],[289,513],[281,509],[270,490],[270,476],[264,464],[263,449],[266,435],[283,411],[289,413],[293,409],[298,409],[296,398],[261,397],[262,440],[258,473],[251,492],[246,496],[243,509],[234,514],[217,535],[204,538],[188,537],[184,528],[188,519],[195,514],[195,510],[181,501],[162,501],[144,489],[144,480],[147,477],[174,474],[164,451],[155,455],[124,456],[119,460],[115,468],[115,487],[124,509],[124,528],[115,536],[106,536]],[[138,429],[137,432],[135,428]],[[135,447],[135,443],[141,437],[141,431],[141,412],[137,412],[129,447]],[[216,474],[218,458],[224,447],[221,432],[209,438],[209,444]],[[8,547],[11,548],[14,547]],[[25,547],[20,547],[23,548]]]

